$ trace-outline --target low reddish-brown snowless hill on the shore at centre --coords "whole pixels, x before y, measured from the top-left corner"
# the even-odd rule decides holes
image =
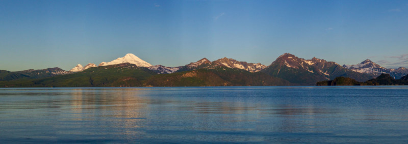
[[[156,87],[290,85],[287,80],[264,73],[224,67],[155,75],[145,84]]]

